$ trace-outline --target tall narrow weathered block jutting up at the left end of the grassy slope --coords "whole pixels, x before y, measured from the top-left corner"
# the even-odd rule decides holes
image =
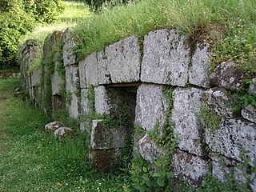
[[[62,41],[64,42],[63,50],[62,50],[64,66],[70,66],[76,63],[76,56],[74,54],[75,42],[74,42],[74,39],[72,38],[72,33],[73,33],[73,30],[71,30],[70,28],[67,28],[62,34]]]

